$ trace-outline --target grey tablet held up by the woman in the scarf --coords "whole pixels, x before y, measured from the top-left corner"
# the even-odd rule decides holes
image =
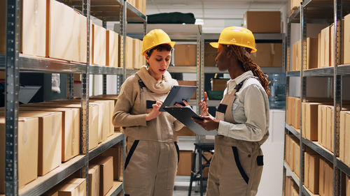
[[[183,103],[182,100],[188,102],[196,90],[197,86],[173,86],[159,111],[165,112],[165,107],[172,107],[175,103]]]

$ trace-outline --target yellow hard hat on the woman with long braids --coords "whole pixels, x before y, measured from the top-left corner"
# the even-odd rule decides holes
[[[219,44],[239,45],[251,48],[251,52],[256,52],[253,33],[244,27],[227,27],[223,29],[218,42],[210,43],[212,47],[216,48],[218,48]]]

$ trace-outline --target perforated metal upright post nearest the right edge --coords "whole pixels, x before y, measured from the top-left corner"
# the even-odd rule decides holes
[[[337,156],[339,156],[339,119],[342,110],[342,75],[338,75],[337,66],[342,64],[342,0],[334,0],[334,155],[333,155],[333,195],[341,194],[340,170],[337,167]]]

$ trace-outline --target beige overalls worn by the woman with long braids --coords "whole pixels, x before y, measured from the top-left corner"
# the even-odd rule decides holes
[[[238,84],[231,93],[227,93],[216,112],[216,119],[235,123],[232,115],[232,103]],[[253,110],[253,108],[251,109]],[[262,174],[262,151],[260,142],[235,140],[232,137],[216,135],[214,156],[209,167],[207,196],[253,196],[258,191]]]

